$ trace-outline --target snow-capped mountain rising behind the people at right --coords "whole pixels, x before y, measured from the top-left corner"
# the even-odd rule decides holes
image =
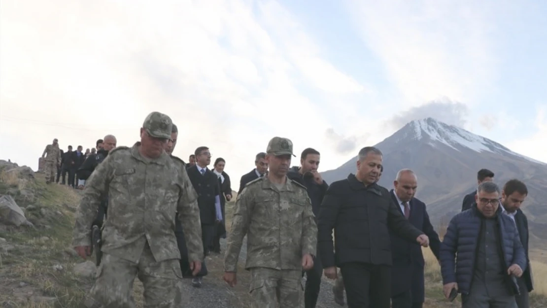
[[[529,195],[523,211],[532,222],[547,223],[544,205],[547,164],[544,162],[433,118],[411,121],[375,147],[383,153],[384,172],[380,184],[392,189],[397,171],[414,170],[418,176],[416,197],[428,204],[434,225],[461,210],[463,196],[476,189],[476,172],[481,168],[492,170],[496,175],[494,181],[499,185],[512,178],[524,181]],[[357,156],[334,170],[323,172],[323,178],[328,183],[346,178],[355,172],[356,161]],[[537,228],[547,230],[547,224]],[[547,233],[541,234],[547,240]]]

